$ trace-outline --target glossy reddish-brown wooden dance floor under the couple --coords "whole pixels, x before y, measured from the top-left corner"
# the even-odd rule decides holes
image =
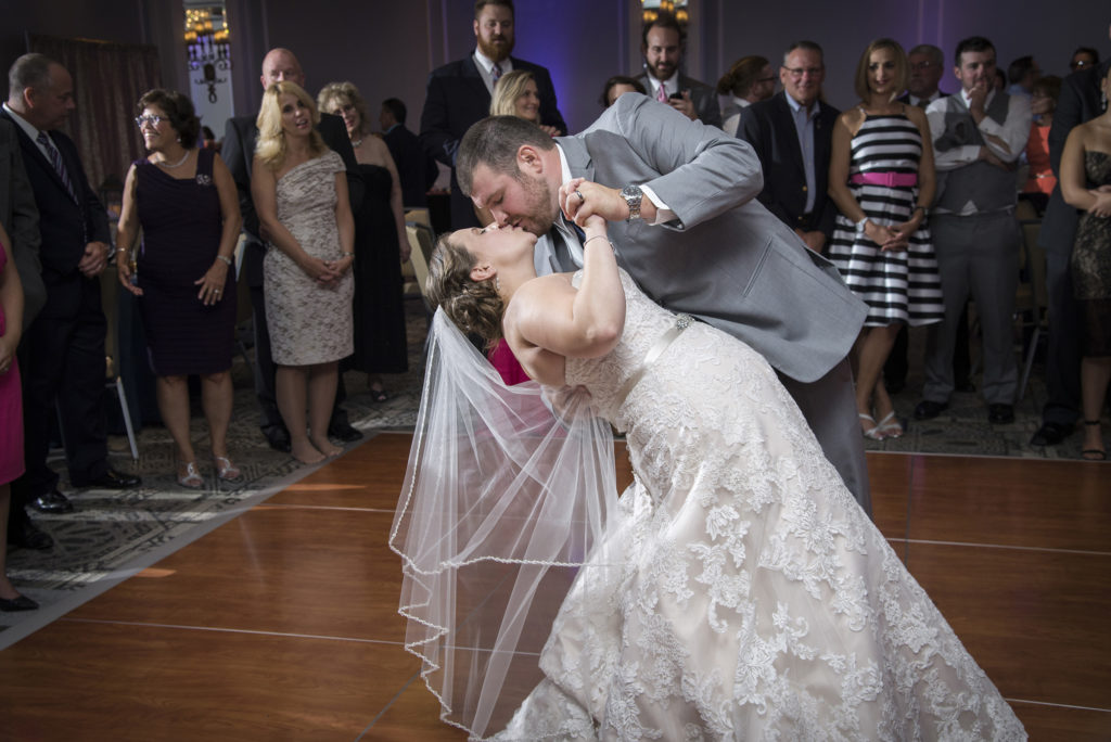
[[[0,652],[0,739],[466,739],[401,645],[409,443],[379,434]],[[869,457],[877,523],[1031,739],[1111,739],[1111,467]]]

